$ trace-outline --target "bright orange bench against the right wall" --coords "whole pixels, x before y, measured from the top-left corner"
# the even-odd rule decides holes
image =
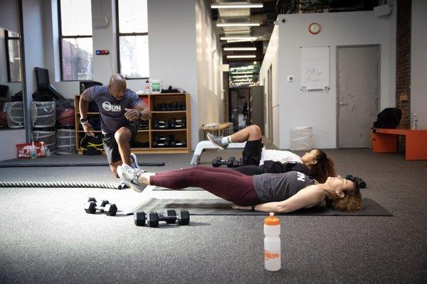
[[[427,160],[427,129],[376,129],[372,150],[374,153],[396,152],[399,135],[406,136],[406,160]]]

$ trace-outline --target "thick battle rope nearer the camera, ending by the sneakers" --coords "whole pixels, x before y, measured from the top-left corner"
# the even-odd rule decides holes
[[[95,187],[122,190],[122,183],[115,182],[3,182],[0,187]]]

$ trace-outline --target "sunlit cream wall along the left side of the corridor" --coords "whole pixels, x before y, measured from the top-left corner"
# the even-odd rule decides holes
[[[196,61],[197,61],[197,105],[199,119],[193,120],[192,128],[198,130],[202,124],[223,122],[222,48],[211,19],[210,1],[196,0]],[[192,108],[194,111],[196,108]],[[193,131],[196,144],[197,131]]]

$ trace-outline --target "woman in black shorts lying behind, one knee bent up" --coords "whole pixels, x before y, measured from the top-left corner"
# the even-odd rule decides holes
[[[327,177],[335,176],[334,163],[319,149],[305,153],[301,157],[290,151],[265,150],[263,136],[259,126],[253,124],[233,133],[231,136],[207,137],[216,147],[227,148],[228,143],[246,142],[242,153],[243,166],[235,168],[245,175],[260,175],[263,173],[287,173],[292,170],[310,175],[319,182],[325,182]]]

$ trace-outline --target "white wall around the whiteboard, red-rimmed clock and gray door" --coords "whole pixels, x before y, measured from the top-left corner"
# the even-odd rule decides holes
[[[282,23],[285,19],[285,23]],[[395,105],[396,65],[396,11],[390,16],[376,18],[372,11],[344,13],[305,13],[278,16],[278,70],[273,70],[273,102],[278,101],[277,113],[273,111],[273,125],[278,125],[279,148],[290,147],[291,126],[313,127],[316,148],[335,148],[336,145],[336,48],[337,45],[381,45],[381,100],[380,109]],[[322,31],[311,35],[310,23],[320,23]],[[274,39],[273,39],[274,40]],[[300,91],[300,46],[330,45],[330,91]],[[267,62],[265,62],[267,63]],[[264,62],[263,62],[264,65]],[[266,75],[268,64],[263,66]],[[274,75],[277,75],[275,77]],[[286,82],[293,75],[294,82]],[[278,96],[274,98],[274,96]],[[276,117],[277,116],[277,117]],[[276,136],[276,132],[273,136]]]

